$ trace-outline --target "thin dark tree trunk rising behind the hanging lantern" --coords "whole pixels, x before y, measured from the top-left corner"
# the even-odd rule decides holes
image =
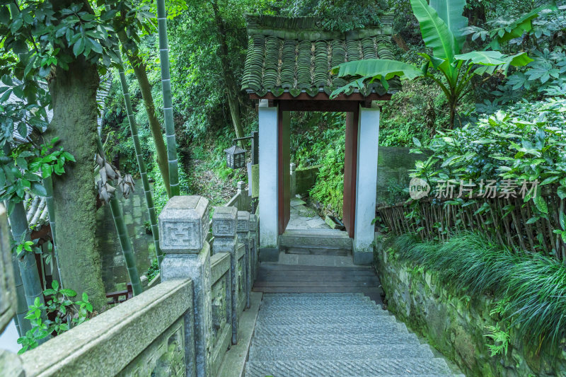
[[[212,1],[212,10],[214,11],[214,22],[216,23],[216,31],[220,42],[220,69],[222,71],[224,83],[226,84],[230,116],[232,118],[234,130],[236,131],[236,137],[243,137],[240,106],[238,103],[238,90],[236,80],[234,80],[234,75],[231,74],[230,70],[228,43],[226,43],[226,28],[224,28],[224,21],[222,21],[216,1]]]

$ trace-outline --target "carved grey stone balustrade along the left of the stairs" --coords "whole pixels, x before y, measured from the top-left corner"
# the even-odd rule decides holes
[[[258,220],[235,207],[173,197],[159,216],[161,283],[0,368],[24,376],[215,376],[238,340],[257,270]],[[254,233],[255,232],[255,233]]]

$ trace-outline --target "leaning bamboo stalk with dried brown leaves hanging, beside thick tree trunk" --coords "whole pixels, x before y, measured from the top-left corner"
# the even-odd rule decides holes
[[[136,265],[136,256],[134,254],[134,249],[132,248],[132,240],[130,240],[126,223],[124,221],[124,214],[122,213],[122,206],[117,198],[116,188],[108,183],[108,180],[117,180],[118,186],[122,191],[124,197],[128,197],[129,193],[133,191],[134,180],[132,175],[126,174],[122,178],[120,172],[112,166],[111,163],[106,161],[106,153],[104,152],[104,147],[100,137],[97,137],[98,151],[96,155],[96,163],[100,168],[100,180],[96,182],[98,187],[98,197],[103,203],[110,203],[110,211],[112,212],[112,217],[114,218],[114,224],[116,226],[116,231],[118,233],[118,239],[120,240],[120,246],[122,247],[122,253],[124,254],[124,259],[126,261],[126,269],[128,271],[129,281],[132,282],[132,290],[134,291],[134,296],[141,294],[144,289],[141,287],[141,280],[139,279],[139,272]]]

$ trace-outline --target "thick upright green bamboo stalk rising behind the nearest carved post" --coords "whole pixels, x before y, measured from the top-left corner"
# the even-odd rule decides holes
[[[157,27],[159,33],[159,60],[161,64],[161,90],[163,91],[163,117],[165,120],[167,159],[169,164],[169,187],[171,187],[171,197],[174,197],[175,195],[179,195],[179,170],[175,141],[175,123],[173,122],[171,75],[169,74],[169,46],[167,41],[165,0],[157,0]]]

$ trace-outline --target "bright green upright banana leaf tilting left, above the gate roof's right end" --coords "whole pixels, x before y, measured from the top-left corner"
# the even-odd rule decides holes
[[[435,57],[454,60],[456,40],[448,25],[439,17],[426,0],[411,0],[412,13],[420,24],[422,39],[427,47],[432,48]]]

